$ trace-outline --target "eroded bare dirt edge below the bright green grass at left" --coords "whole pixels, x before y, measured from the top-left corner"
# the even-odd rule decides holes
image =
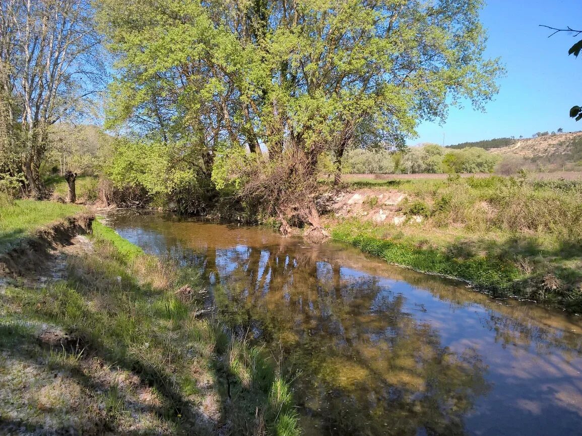
[[[90,233],[94,218],[80,213],[23,238],[15,248],[0,254],[0,276],[35,276],[54,258],[56,249],[70,245],[76,235]]]

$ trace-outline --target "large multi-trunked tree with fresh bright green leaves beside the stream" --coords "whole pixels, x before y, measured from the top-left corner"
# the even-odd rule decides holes
[[[317,160],[403,144],[496,92],[480,0],[103,0],[112,120],[191,141],[218,185],[321,225]]]

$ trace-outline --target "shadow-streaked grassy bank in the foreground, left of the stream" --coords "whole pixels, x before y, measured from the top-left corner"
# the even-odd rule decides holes
[[[100,223],[66,262],[0,291],[0,433],[299,433],[275,360],[204,310],[197,271]]]

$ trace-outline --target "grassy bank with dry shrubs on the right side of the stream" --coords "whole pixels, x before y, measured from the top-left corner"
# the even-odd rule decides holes
[[[331,219],[333,238],[390,263],[462,278],[495,296],[582,311],[580,182],[453,177],[390,181],[382,188],[405,192],[397,213],[421,216],[422,223]]]

